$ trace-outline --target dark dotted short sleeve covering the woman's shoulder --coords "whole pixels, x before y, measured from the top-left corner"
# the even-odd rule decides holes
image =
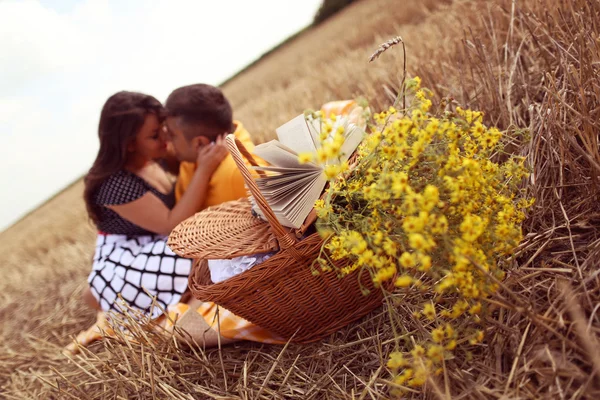
[[[96,193],[100,205],[120,205],[139,199],[148,191],[142,178],[127,170],[120,170],[102,182]]]

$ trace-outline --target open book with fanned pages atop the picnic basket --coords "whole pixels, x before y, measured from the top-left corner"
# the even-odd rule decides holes
[[[345,128],[342,156],[332,162],[346,161],[365,135],[361,128],[344,117],[338,118],[334,131],[340,125]],[[254,148],[254,154],[270,164],[268,167],[254,167],[265,173],[264,177],[256,180],[256,184],[283,226],[300,228],[327,183],[323,166],[298,161],[299,153],[316,153],[321,146],[320,127],[319,120],[308,121],[301,114],[277,128],[279,140]],[[254,202],[253,209],[262,215]]]

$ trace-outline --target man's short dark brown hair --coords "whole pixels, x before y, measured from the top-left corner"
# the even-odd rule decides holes
[[[211,139],[231,132],[233,111],[231,104],[218,87],[198,83],[175,89],[165,104],[169,116],[180,117],[191,129],[202,127],[202,133]],[[187,134],[187,133],[186,133]],[[194,132],[190,135],[197,136]]]

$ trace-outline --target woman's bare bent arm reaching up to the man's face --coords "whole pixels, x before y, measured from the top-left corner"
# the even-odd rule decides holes
[[[226,155],[227,148],[221,142],[200,149],[198,167],[190,185],[172,210],[151,192],[132,202],[107,207],[150,232],[168,235],[181,221],[194,215],[202,206],[210,178]]]

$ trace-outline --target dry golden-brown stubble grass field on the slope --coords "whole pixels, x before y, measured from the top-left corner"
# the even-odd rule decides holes
[[[485,343],[454,360],[440,387],[409,397],[600,398],[600,1],[362,0],[228,82],[235,118],[263,141],[326,101],[360,95],[387,107],[402,49],[367,61],[395,35],[408,74],[438,100],[452,96],[485,111],[488,124],[528,130],[512,150],[532,166],[537,198]],[[64,358],[62,346],[94,318],[78,302],[95,240],[82,188],[0,234],[0,397],[389,397],[387,308],[311,345],[196,353],[105,340]]]

